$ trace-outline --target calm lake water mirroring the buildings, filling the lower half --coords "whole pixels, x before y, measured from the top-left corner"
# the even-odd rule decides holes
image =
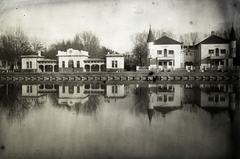
[[[0,158],[240,158],[233,84],[0,84]]]

